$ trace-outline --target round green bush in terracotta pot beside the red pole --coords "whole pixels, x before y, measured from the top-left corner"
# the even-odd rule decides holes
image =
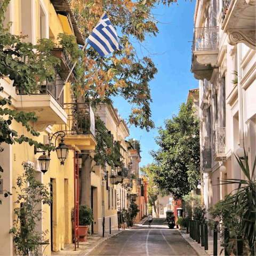
[[[74,220],[74,208],[72,210],[72,220]],[[86,242],[86,234],[89,225],[93,222],[93,211],[87,205],[79,205],[79,242]]]

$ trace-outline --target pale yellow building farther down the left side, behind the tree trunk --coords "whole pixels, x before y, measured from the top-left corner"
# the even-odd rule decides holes
[[[117,212],[129,207],[127,194],[131,183],[131,147],[130,142],[125,141],[129,136],[129,129],[124,120],[113,106],[101,105],[95,111],[100,119],[105,123],[111,138],[119,141],[121,146],[122,158],[121,167],[111,170],[109,165],[105,168],[94,165],[91,173],[92,202],[94,222],[92,225],[93,233],[102,234],[102,223],[105,218],[105,231],[109,232],[111,219],[111,229],[118,227]],[[93,163],[95,164],[95,163]],[[111,176],[115,176],[115,181]]]

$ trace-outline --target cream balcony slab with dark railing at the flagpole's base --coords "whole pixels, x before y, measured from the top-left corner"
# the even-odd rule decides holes
[[[23,111],[35,111],[39,120],[35,123],[35,129],[44,131],[47,126],[54,124],[66,124],[67,114],[63,109],[64,81],[57,69],[55,70],[55,81],[47,79],[39,85],[38,90],[31,95],[22,94],[17,97],[17,109]]]

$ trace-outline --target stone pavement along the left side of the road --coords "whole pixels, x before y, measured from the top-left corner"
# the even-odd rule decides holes
[[[144,218],[143,220],[140,220],[137,224],[135,224],[133,227],[127,228],[132,229],[137,226],[142,226],[143,223],[147,220],[147,218]],[[126,229],[125,229],[126,230]],[[87,236],[87,242],[79,242],[79,248],[75,250],[75,244],[65,244],[65,248],[62,249],[59,252],[52,252],[52,255],[81,255],[86,256],[91,251],[93,251],[97,246],[99,246],[102,242],[107,240],[110,237],[116,236],[119,233],[123,232],[124,230],[120,228],[118,229],[111,229],[111,235],[109,234],[109,231],[104,234],[104,237],[102,237],[102,234],[93,234],[92,236]]]

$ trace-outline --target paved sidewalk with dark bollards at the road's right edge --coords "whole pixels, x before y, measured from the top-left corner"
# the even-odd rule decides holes
[[[201,244],[198,244],[195,242],[189,234],[187,234],[186,230],[179,229],[180,234],[183,236],[183,238],[193,247],[193,249],[198,253],[199,256],[213,256],[213,236],[208,236],[208,250],[204,250],[204,247],[201,246]],[[217,247],[217,255],[224,256],[225,252],[224,250],[220,254],[220,251],[223,249],[223,247],[220,246],[221,242],[218,240],[218,247]]]

